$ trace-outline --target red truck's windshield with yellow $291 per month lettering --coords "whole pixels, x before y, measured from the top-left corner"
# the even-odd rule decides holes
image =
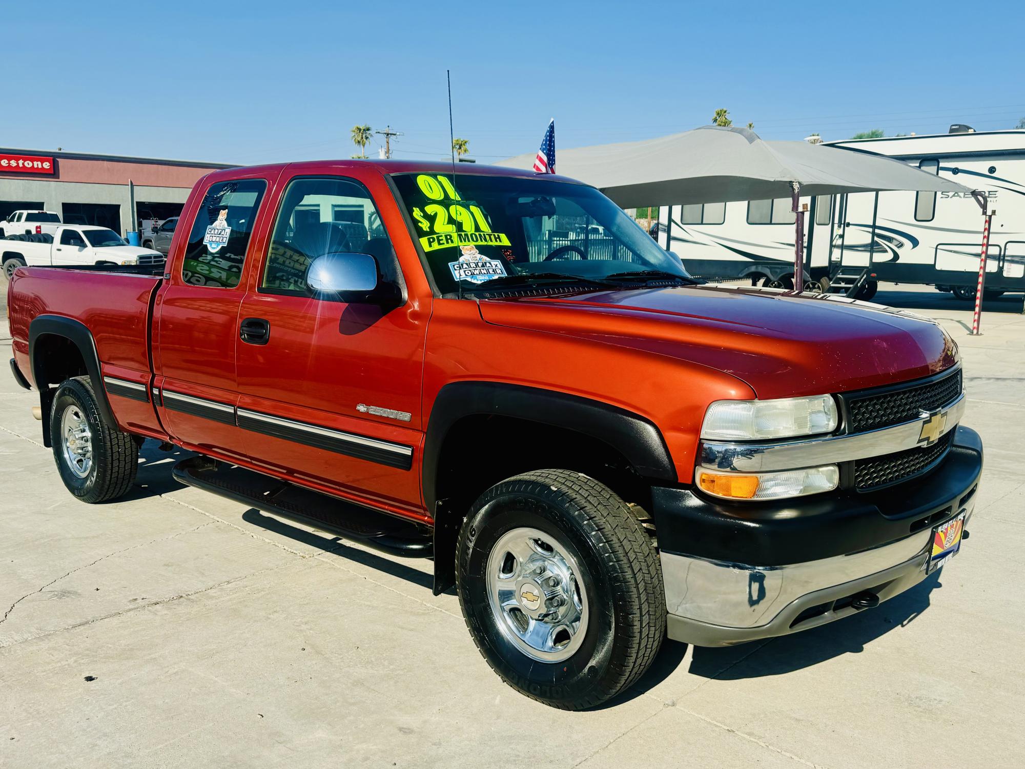
[[[591,187],[468,173],[399,173],[393,179],[443,294],[694,282]]]

